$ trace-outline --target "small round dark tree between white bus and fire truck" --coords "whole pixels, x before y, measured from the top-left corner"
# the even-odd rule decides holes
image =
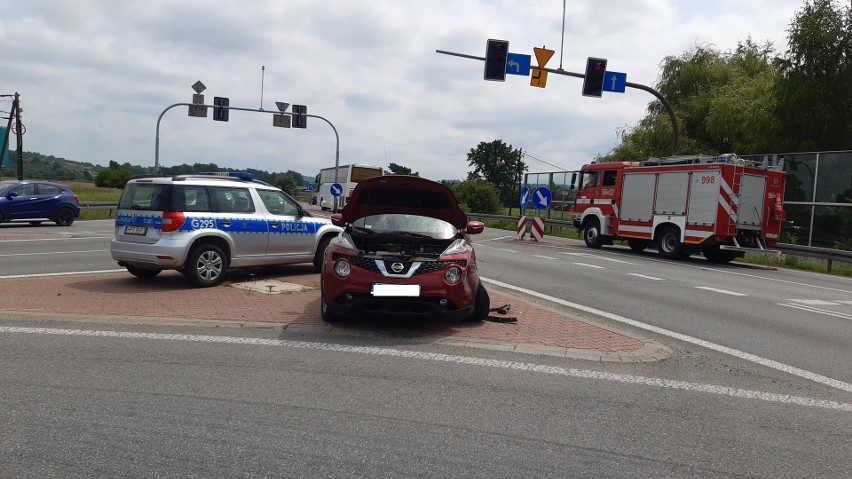
[[[527,170],[520,150],[506,145],[503,140],[480,142],[467,154],[467,162],[473,167],[473,171],[467,173],[468,180],[485,180],[494,185],[503,205],[514,201],[512,187],[517,182],[518,166],[521,174]]]

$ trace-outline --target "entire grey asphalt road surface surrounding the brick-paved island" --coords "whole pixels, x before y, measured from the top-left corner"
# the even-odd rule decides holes
[[[117,270],[111,231],[0,225],[0,286]],[[850,476],[848,279],[504,234],[476,238],[492,287],[651,335],[672,357],[7,319],[0,476]]]

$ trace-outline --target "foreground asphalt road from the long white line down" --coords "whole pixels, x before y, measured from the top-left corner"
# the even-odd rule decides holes
[[[4,477],[849,474],[852,405],[655,378],[665,365],[628,375],[276,329],[10,326]],[[730,374],[695,361],[681,366]]]

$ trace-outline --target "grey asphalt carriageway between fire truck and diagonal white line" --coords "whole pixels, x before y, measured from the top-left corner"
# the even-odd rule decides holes
[[[477,242],[486,278],[852,384],[852,278],[498,235]]]

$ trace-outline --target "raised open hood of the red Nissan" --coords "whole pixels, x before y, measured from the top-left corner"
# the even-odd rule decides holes
[[[380,214],[410,214],[444,220],[457,229],[467,226],[453,191],[432,180],[407,175],[376,176],[361,180],[340,210],[344,222]]]

